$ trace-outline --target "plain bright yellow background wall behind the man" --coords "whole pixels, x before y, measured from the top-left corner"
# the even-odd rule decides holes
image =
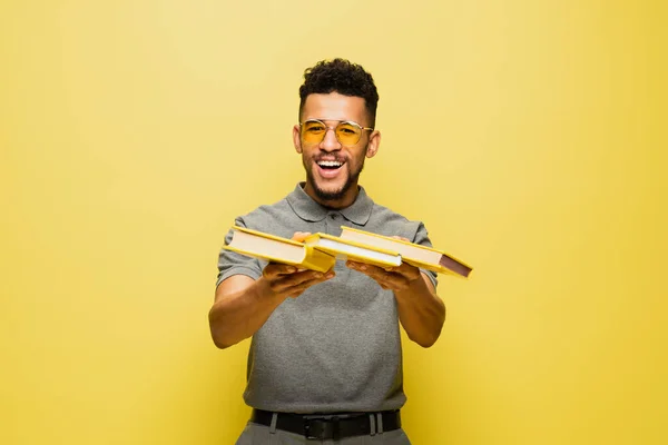
[[[2,2],[0,443],[234,442],[218,248],[332,57],[380,89],[362,184],[475,266],[405,343],[413,443],[667,443],[664,4]]]

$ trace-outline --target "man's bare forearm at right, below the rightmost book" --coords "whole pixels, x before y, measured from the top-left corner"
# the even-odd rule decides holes
[[[445,322],[445,304],[421,277],[411,281],[404,290],[395,290],[394,296],[399,319],[409,338],[422,347],[432,346]]]

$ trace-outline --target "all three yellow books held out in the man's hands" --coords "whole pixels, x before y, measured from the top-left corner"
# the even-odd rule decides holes
[[[471,266],[442,250],[352,227],[341,228],[343,233],[340,237],[318,233],[308,236],[302,243],[233,226],[232,239],[223,248],[249,257],[323,273],[334,267],[337,259],[380,267],[396,267],[407,263],[426,270],[463,278],[469,278],[473,270]]]

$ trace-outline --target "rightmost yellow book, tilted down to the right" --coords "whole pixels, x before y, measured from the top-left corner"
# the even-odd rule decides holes
[[[468,278],[473,268],[465,263],[445,254],[442,250],[420,246],[414,243],[403,241],[401,239],[372,234],[355,229],[352,227],[341,227],[343,233],[341,238],[348,241],[356,241],[363,245],[373,246],[379,249],[396,251],[402,259],[413,266],[422,267],[439,274],[451,274]]]

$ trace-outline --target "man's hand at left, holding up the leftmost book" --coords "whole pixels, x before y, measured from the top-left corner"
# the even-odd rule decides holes
[[[297,231],[292,239],[303,241],[310,233]],[[269,263],[263,270],[264,284],[276,297],[296,298],[311,286],[326,281],[334,277],[334,270],[321,273],[315,270],[297,269],[295,266]]]

